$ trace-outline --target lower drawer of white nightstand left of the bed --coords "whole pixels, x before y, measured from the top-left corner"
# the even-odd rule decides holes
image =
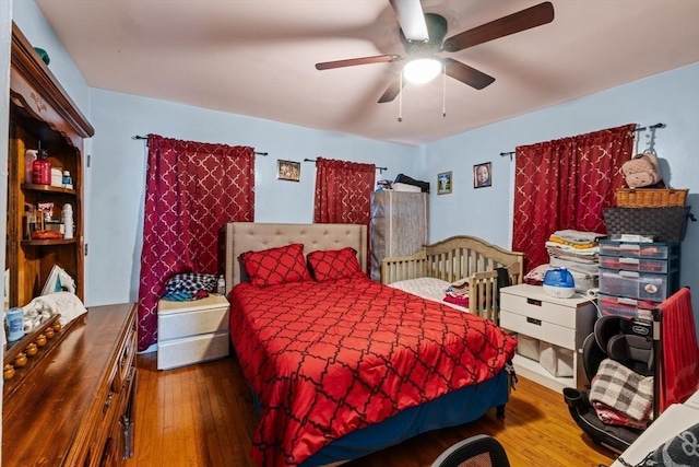
[[[158,341],[157,369],[167,370],[221,359],[228,354],[228,331]]]

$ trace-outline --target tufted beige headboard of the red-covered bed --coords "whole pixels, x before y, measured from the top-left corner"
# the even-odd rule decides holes
[[[304,254],[351,246],[366,272],[367,226],[353,224],[271,224],[232,222],[224,235],[226,294],[240,282],[240,254],[303,243]]]

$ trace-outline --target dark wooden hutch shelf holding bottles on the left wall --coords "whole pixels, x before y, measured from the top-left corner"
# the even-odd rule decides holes
[[[83,150],[95,130],[14,23],[9,107],[5,306],[35,299],[56,265],[73,278],[75,295],[83,300]],[[36,148],[46,150],[52,168],[70,172],[72,188],[26,183],[27,151]],[[60,222],[63,206],[72,207],[73,238],[27,235],[27,206],[38,210],[43,203],[54,203],[51,222]],[[50,226],[58,229],[58,222]]]

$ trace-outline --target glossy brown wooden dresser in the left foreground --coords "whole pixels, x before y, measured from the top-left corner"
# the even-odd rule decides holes
[[[5,382],[2,465],[125,464],[133,440],[135,352],[135,305],[91,307],[69,324],[40,360],[29,359],[21,383]]]

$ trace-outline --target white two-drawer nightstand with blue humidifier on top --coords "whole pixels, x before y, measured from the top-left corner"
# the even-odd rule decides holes
[[[550,389],[585,389],[582,342],[592,332],[596,308],[590,297],[554,299],[542,287],[518,284],[500,290],[500,326],[572,352],[572,375],[554,376],[535,360],[514,355],[518,374]]]

